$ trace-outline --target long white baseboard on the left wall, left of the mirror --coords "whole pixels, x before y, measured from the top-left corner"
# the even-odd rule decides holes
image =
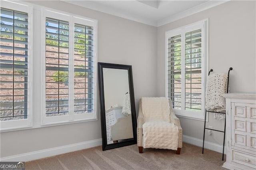
[[[76,144],[60,146],[60,147],[56,147],[56,148],[38,150],[35,152],[29,152],[29,153],[25,153],[25,154],[8,156],[8,157],[0,158],[0,161],[1,162],[23,162],[23,161],[26,162],[26,161],[30,161],[30,160],[46,158],[49,156],[55,156],[58,154],[64,154],[67,152],[73,152],[76,150],[92,148],[92,147],[100,146],[100,145],[102,145],[102,140],[96,139],[96,140],[90,140],[90,141],[80,142],[80,143],[76,143]]]

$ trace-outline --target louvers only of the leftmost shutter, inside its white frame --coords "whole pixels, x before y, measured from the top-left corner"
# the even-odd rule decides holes
[[[28,14],[1,8],[0,121],[27,119]]]

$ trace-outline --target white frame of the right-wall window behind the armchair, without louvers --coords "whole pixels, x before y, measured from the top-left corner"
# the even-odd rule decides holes
[[[201,29],[201,44],[202,44],[202,66],[201,66],[201,111],[188,111],[185,110],[185,34]],[[204,120],[205,108],[205,91],[208,70],[208,18],[167,31],[165,33],[165,96],[168,97],[168,39],[174,36],[181,35],[181,109],[173,109],[175,114],[179,117],[185,117],[196,120]]]

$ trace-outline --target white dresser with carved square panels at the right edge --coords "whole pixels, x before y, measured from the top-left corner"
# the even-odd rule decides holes
[[[230,170],[256,170],[256,93],[228,93],[226,162]]]

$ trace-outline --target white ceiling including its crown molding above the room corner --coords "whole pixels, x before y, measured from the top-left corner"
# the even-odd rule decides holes
[[[151,26],[161,26],[227,0],[63,0]]]

